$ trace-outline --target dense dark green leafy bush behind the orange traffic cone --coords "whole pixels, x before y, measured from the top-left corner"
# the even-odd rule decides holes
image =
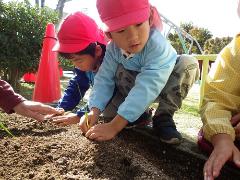
[[[57,13],[32,7],[28,1],[0,1],[0,76],[13,87],[26,72],[36,71],[48,22],[56,23]]]

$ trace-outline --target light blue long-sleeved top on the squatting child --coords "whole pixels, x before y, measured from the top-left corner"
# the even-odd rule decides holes
[[[124,58],[121,49],[114,42],[107,46],[105,57],[89,99],[89,108],[103,111],[113,95],[115,73],[119,64],[125,69],[139,72],[135,85],[118,108],[118,114],[134,122],[158,97],[172,73],[177,53],[170,43],[155,29],[150,32],[143,50],[131,59]]]

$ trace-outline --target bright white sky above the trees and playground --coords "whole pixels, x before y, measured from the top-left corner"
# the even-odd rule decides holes
[[[30,0],[34,2],[34,0]],[[58,0],[46,0],[54,8]],[[208,29],[214,37],[234,36],[240,32],[237,0],[150,0],[158,11],[176,25],[192,22]],[[64,12],[84,11],[101,24],[96,0],[71,0],[65,3]],[[87,9],[87,11],[86,11]]]

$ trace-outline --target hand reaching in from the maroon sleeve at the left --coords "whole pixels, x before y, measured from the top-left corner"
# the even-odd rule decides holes
[[[62,114],[63,109],[55,109],[51,106],[34,101],[23,101],[16,105],[13,110],[22,116],[44,121],[49,115]]]

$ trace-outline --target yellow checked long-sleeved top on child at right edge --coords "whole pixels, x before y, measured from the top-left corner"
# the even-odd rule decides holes
[[[240,34],[218,55],[211,67],[200,110],[204,137],[229,134],[235,140],[230,119],[240,112]]]

